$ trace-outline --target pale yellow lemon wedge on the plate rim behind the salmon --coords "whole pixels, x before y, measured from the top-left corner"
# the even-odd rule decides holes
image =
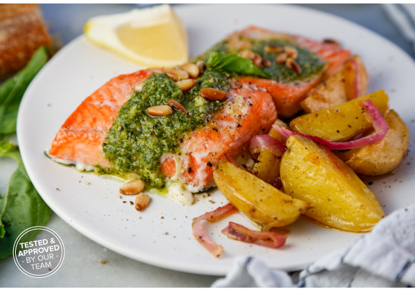
[[[84,34],[94,44],[145,66],[187,62],[185,29],[167,4],[93,17],[86,22]]]

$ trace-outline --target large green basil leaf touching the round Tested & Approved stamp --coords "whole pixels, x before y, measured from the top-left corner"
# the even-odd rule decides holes
[[[43,226],[49,219],[50,208],[39,196],[23,162],[10,178],[8,191],[0,203],[3,238],[0,238],[0,259],[10,256],[15,240],[21,232],[33,226]],[[25,236],[25,242],[33,241],[40,230]],[[22,241],[23,242],[23,241]]]

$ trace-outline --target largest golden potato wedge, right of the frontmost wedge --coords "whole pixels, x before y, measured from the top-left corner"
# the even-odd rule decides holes
[[[287,140],[281,180],[286,194],[312,206],[309,216],[349,232],[367,232],[385,216],[374,194],[329,149],[300,135]]]

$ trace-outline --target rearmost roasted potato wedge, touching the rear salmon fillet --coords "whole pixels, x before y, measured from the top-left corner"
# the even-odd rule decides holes
[[[356,67],[353,65],[357,65]],[[358,77],[358,82],[355,87],[355,77]],[[369,75],[367,74],[365,65],[362,63],[360,57],[355,56],[353,59],[346,62],[338,73],[326,79],[322,84],[311,89],[300,105],[307,113],[320,111],[322,109],[336,106],[353,100],[355,97],[355,88],[358,89],[358,96],[367,93],[367,86],[369,85]]]

